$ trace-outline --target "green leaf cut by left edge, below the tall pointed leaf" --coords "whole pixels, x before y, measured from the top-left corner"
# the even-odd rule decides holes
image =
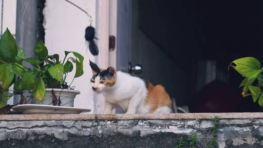
[[[14,78],[15,72],[11,63],[0,64],[0,83],[4,90],[8,90]]]

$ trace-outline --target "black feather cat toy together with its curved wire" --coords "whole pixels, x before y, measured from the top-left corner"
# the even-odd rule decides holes
[[[82,8],[80,8],[79,6],[77,6],[75,3],[69,1],[69,0],[65,0],[69,3],[71,3],[72,5],[74,5],[75,7],[77,7],[78,9],[80,9],[81,11],[83,11],[84,13],[86,13],[88,15],[88,17],[90,17],[90,23],[92,24],[92,17],[91,15],[88,14],[87,11],[83,10]],[[89,43],[89,49],[90,49],[90,52],[93,56],[97,56],[98,55],[98,46],[96,45],[96,42],[94,39],[97,39],[95,37],[95,28],[92,27],[90,24],[90,26],[88,26],[85,30],[85,39],[86,41]]]

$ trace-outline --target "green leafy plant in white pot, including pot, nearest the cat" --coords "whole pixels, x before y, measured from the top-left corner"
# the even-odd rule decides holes
[[[78,54],[77,52],[68,52],[65,51],[65,56],[63,61],[59,60],[59,55],[51,55],[47,56],[47,54],[44,55],[44,57],[41,56],[41,54],[37,54],[39,51],[39,54],[45,51],[47,53],[46,47],[43,44],[43,42],[40,40],[37,42],[35,47],[35,54],[38,56],[38,58],[41,58],[44,62],[44,66],[38,69],[40,67],[39,65],[35,65],[34,63],[31,63],[35,69],[38,69],[41,73],[43,73],[43,81],[45,82],[46,86],[46,94],[43,98],[43,100],[37,99],[36,104],[45,104],[45,105],[58,105],[58,106],[67,106],[67,107],[73,107],[74,105],[74,98],[77,94],[79,94],[79,91],[75,91],[71,85],[76,77],[79,77],[83,74],[83,60],[84,57]],[[72,53],[74,57],[69,56],[69,54]],[[69,73],[73,71],[73,67],[75,64],[75,76],[71,83],[68,85],[66,79]],[[38,63],[39,64],[39,63]],[[40,63],[41,64],[41,63]],[[34,87],[33,87],[34,91]],[[35,94],[35,92],[33,92]],[[58,99],[57,97],[58,96]],[[34,97],[38,97],[34,95]]]

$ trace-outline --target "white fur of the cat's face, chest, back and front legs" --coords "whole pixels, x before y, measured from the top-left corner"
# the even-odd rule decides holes
[[[103,113],[110,114],[115,107],[121,108],[127,114],[149,113],[149,107],[144,105],[148,93],[144,80],[123,72],[117,72],[116,76],[113,87],[99,84],[99,76],[95,78],[95,83],[91,83],[105,97]]]

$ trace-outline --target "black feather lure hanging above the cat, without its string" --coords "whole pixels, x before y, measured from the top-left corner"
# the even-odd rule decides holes
[[[93,56],[97,56],[99,51],[98,51],[98,46],[96,45],[96,42],[94,39],[97,39],[95,37],[95,28],[92,26],[88,26],[85,30],[85,39],[89,43],[89,49],[90,52]]]

